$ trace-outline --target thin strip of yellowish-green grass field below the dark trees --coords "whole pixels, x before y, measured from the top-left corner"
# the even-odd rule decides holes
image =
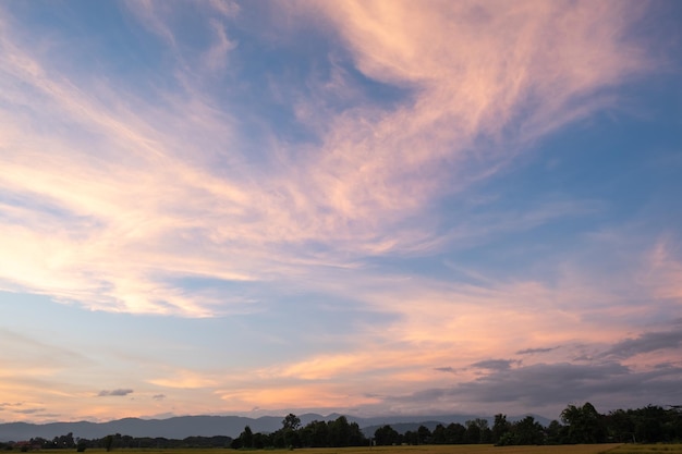
[[[66,453],[52,451],[51,453]],[[75,451],[68,451],[69,454]],[[291,454],[289,450],[233,451],[230,449],[135,450],[114,449],[110,454]],[[491,444],[375,446],[375,447],[309,447],[294,450],[299,454],[682,454],[682,444],[565,444],[559,446],[494,446]],[[86,454],[107,454],[88,449]]]

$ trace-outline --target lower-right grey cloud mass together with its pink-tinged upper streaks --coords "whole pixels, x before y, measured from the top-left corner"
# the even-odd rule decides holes
[[[545,416],[550,418],[559,417],[570,403],[592,402],[604,413],[649,404],[673,405],[682,402],[682,354],[674,354],[681,347],[682,323],[677,321],[667,331],[643,332],[606,347],[576,343],[516,352],[529,355],[567,349],[571,356],[580,354],[580,360],[525,364],[517,359],[485,359],[470,365],[467,369],[474,371],[475,378],[468,381],[377,398],[381,405],[391,404],[409,412],[452,406],[512,414],[546,412]],[[667,355],[668,358],[656,355],[636,365],[629,360],[634,355],[651,352],[672,355]],[[434,369],[458,371],[451,367]]]

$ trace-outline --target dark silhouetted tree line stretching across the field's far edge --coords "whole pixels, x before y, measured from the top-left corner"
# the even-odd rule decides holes
[[[331,421],[313,421],[306,426],[301,419],[289,414],[282,419],[282,427],[273,432],[253,432],[248,426],[235,439],[231,437],[188,437],[183,440],[166,438],[134,438],[110,434],[101,439],[74,438],[73,433],[54,437],[52,440],[34,438],[26,442],[0,443],[2,450],[21,449],[49,450],[76,449],[83,452],[88,447],[233,447],[260,450],[268,447],[343,447],[363,445],[399,444],[477,444],[496,445],[521,444],[579,444],[579,443],[658,443],[682,442],[682,408],[648,405],[636,409],[617,409],[600,414],[590,404],[568,405],[561,412],[560,420],[552,420],[547,427],[533,416],[510,421],[507,415],[498,414],[490,425],[488,419],[476,418],[464,425],[439,424],[434,430],[421,426],[414,431],[398,432],[390,425],[375,430],[366,437],[356,422],[349,422],[345,416]]]

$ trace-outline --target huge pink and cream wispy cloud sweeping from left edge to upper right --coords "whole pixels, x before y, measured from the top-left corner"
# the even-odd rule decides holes
[[[3,247],[21,257],[0,265],[4,287],[112,310],[208,316],[218,302],[174,286],[171,278],[280,279],[306,275],[320,260],[343,265],[366,254],[434,247],[442,240],[429,228],[435,214],[423,208],[429,199],[489,177],[520,152],[508,144],[533,142],[588,114],[601,106],[600,90],[649,68],[640,44],[625,38],[638,8],[409,7],[272,5],[302,10],[300,17],[325,15],[348,44],[352,64],[410,95],[390,107],[358,102],[325,112],[328,126],[318,133],[319,145],[297,144],[307,151],[294,154],[291,145],[271,143],[277,167],[270,170],[248,163],[249,145],[233,133],[238,106],[218,106],[199,82],[204,75],[190,69],[172,5],[130,5],[173,49],[170,69],[181,89],[172,94],[143,95],[96,74],[87,81],[56,73],[46,54],[13,39],[5,24],[3,81],[24,84],[33,95],[5,95],[27,115],[3,127],[13,146],[5,147],[2,185],[23,200],[4,201],[11,219],[3,224]],[[226,20],[239,14],[229,4],[208,8],[218,8]],[[419,20],[405,22],[414,14]],[[239,38],[230,38],[208,10],[197,9],[192,21],[212,24],[208,64],[239,50]],[[453,29],[451,23],[462,25]],[[348,72],[333,77],[341,93],[357,86]],[[596,105],[586,102],[587,95]],[[48,115],[81,133],[40,133]],[[97,154],[88,152],[93,138],[99,140]],[[476,146],[473,155],[480,140],[489,146]],[[565,212],[564,207],[556,216]],[[45,229],[52,232],[49,238]],[[322,244],[327,253],[308,244]],[[222,259],[236,256],[239,262]]]

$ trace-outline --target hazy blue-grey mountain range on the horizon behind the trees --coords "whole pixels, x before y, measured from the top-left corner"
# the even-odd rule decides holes
[[[337,419],[339,414],[327,416],[314,413],[297,415],[303,426],[314,421],[330,421]],[[544,426],[549,419],[533,415]],[[373,418],[358,418],[346,416],[350,422],[357,422],[366,435],[374,434],[375,430],[383,425],[390,425],[399,432],[416,430],[421,425],[433,430],[436,425],[443,426],[450,422],[464,424],[467,420],[478,418],[476,415],[439,415],[439,416],[382,416]],[[492,418],[484,417],[492,424]],[[521,417],[509,417],[516,420]],[[187,437],[214,437],[228,435],[239,437],[245,426],[254,432],[273,432],[282,427],[283,416],[263,416],[259,418],[246,418],[242,416],[180,416],[168,419],[139,419],[124,418],[109,422],[51,422],[27,424],[5,422],[0,424],[0,441],[22,441],[41,437],[51,440],[54,437],[72,432],[74,437],[85,439],[100,439],[108,434],[121,433],[131,437],[163,437],[168,439],[184,439]]]

